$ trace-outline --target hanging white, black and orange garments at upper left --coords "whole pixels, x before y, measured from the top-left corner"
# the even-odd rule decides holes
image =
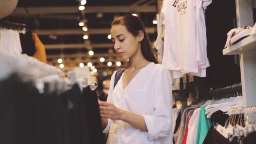
[[[45,46],[37,34],[26,30],[25,24],[0,21],[0,48],[24,53],[47,64]]]

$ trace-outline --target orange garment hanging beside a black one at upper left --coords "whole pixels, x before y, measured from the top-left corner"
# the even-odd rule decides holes
[[[36,48],[34,58],[47,64],[45,46],[43,45],[43,43],[41,42],[37,34],[32,34],[32,37],[35,42],[35,48]]]

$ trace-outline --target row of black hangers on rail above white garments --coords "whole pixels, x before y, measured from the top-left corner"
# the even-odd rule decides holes
[[[242,95],[242,83],[236,83],[223,88],[216,88],[209,91],[213,99],[223,99]]]

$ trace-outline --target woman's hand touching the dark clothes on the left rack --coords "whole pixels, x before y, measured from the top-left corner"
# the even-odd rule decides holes
[[[99,101],[99,109],[102,118],[109,118],[111,120],[122,120],[124,110],[115,107],[112,103]]]

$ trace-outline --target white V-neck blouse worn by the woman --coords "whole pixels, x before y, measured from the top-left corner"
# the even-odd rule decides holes
[[[108,120],[107,144],[172,144],[171,77],[161,64],[151,62],[123,89],[123,75],[114,87],[111,77],[107,101],[144,117],[147,132],[122,120]]]

